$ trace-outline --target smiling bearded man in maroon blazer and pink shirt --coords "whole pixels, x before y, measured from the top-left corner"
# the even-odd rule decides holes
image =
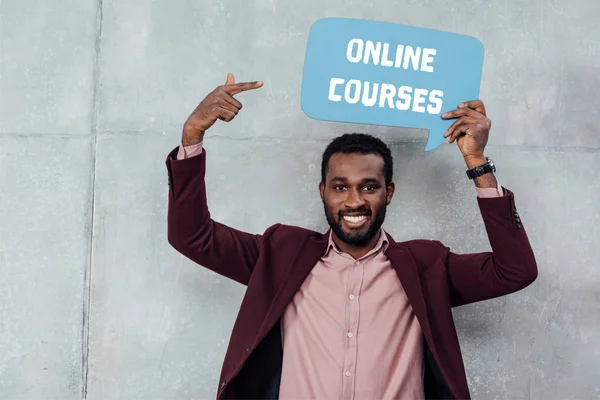
[[[452,307],[525,288],[537,265],[515,207],[484,156],[481,101],[444,118],[457,143],[493,252],[455,254],[438,241],[395,242],[383,229],[393,160],[379,139],[344,135],[323,154],[319,185],[331,229],[275,224],[250,234],[214,221],[204,133],[262,82],[231,74],[192,112],[168,156],[168,240],[190,260],[247,286],[218,399],[469,398]]]

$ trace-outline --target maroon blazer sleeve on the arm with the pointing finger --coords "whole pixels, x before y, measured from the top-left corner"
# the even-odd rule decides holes
[[[171,151],[166,161],[169,244],[193,262],[248,285],[260,248],[276,225],[263,234],[251,234],[213,220],[204,181],[206,149],[183,160],[177,160],[177,150]]]

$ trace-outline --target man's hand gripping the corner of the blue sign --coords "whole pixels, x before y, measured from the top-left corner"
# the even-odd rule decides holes
[[[481,160],[485,163],[483,151],[487,144],[492,121],[485,114],[483,102],[472,100],[461,103],[458,105],[458,109],[442,114],[442,118],[458,118],[444,133],[444,136],[450,138],[448,143],[456,142],[467,164],[477,163]]]

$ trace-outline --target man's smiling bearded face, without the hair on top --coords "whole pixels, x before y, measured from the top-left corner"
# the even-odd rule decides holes
[[[336,153],[319,190],[333,232],[344,243],[361,246],[381,228],[394,184],[385,185],[381,156]]]

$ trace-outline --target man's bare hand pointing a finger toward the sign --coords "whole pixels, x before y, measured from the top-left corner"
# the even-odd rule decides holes
[[[198,107],[188,117],[183,125],[182,143],[190,146],[200,143],[204,132],[210,128],[217,119],[229,122],[242,109],[242,103],[233,96],[247,90],[258,89],[262,81],[235,83],[232,74],[227,74],[224,85],[218,86],[198,104]]]

